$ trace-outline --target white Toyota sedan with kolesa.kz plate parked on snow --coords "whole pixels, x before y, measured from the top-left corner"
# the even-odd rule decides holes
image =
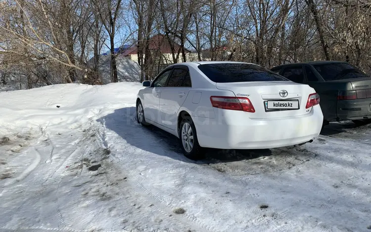
[[[261,66],[187,62],[164,69],[139,90],[137,119],[181,141],[185,156],[203,148],[267,149],[312,142],[323,124],[320,97]]]

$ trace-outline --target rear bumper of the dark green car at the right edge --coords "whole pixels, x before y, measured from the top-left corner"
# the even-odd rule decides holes
[[[357,120],[371,118],[371,98],[356,100],[338,100],[337,118],[339,120]]]

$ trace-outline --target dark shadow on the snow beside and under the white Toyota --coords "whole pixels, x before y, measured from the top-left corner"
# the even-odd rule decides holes
[[[128,144],[157,155],[165,155],[184,162],[210,164],[254,159],[272,155],[269,149],[260,150],[220,150],[207,149],[206,157],[194,161],[182,153],[179,139],[155,126],[142,126],[137,122],[136,108],[127,107],[115,110],[112,114],[97,119],[121,136]]]

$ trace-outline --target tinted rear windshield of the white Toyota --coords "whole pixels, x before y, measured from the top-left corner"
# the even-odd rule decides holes
[[[278,74],[254,64],[203,64],[198,69],[210,80],[219,83],[246,81],[289,81]]]

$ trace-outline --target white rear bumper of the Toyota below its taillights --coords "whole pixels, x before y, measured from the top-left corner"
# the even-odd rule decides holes
[[[303,116],[249,118],[246,112],[220,110],[216,118],[193,118],[201,147],[269,149],[308,142],[318,137],[323,123],[320,106]]]

